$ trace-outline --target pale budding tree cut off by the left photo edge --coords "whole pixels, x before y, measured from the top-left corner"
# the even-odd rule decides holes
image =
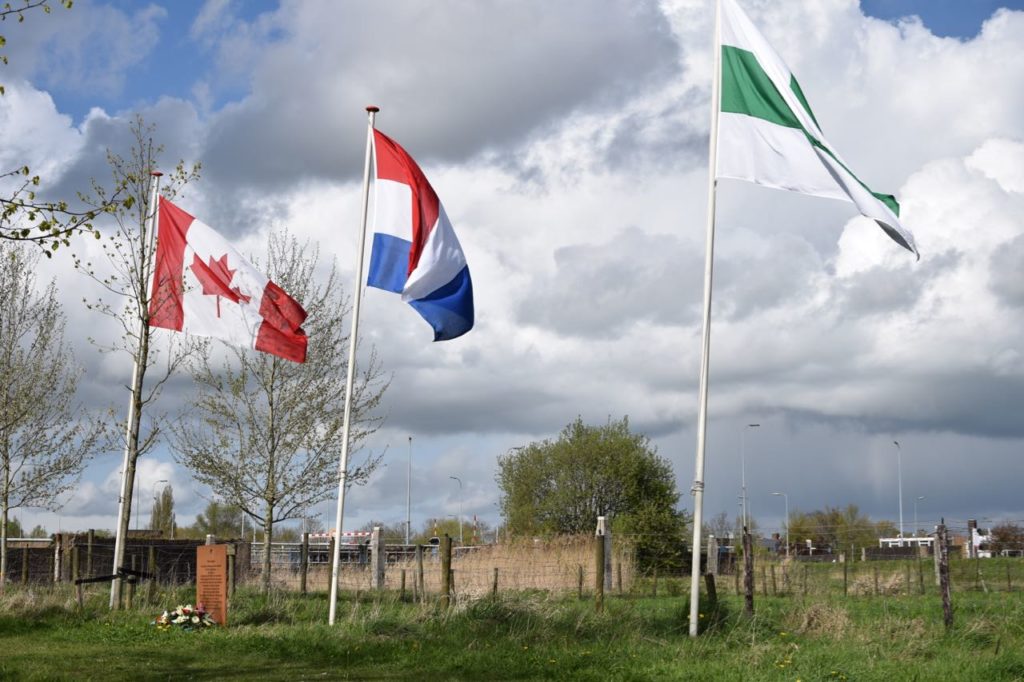
[[[38,254],[0,242],[0,590],[7,520],[54,508],[102,446],[102,424],[75,400],[81,370],[65,342],[56,287],[37,289]]]

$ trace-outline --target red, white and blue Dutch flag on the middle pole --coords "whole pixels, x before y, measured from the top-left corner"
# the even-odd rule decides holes
[[[401,294],[434,341],[473,328],[469,266],[433,187],[393,139],[374,130],[376,210],[367,285]]]

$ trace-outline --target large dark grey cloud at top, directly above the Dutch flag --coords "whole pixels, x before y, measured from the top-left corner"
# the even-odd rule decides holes
[[[580,106],[615,106],[670,75],[654,3],[286,3],[252,91],[213,123],[204,162],[224,184],[356,177],[362,106],[421,161],[516,143]]]

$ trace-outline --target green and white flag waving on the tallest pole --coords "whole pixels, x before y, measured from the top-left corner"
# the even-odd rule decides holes
[[[735,0],[721,0],[715,177],[852,202],[920,258],[892,195],[872,191],[828,143],[788,68]]]

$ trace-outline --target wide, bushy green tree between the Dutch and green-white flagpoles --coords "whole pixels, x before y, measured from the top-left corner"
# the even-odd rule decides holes
[[[581,418],[556,440],[515,447],[498,459],[501,510],[514,534],[592,534],[605,516],[632,536],[641,565],[680,560],[686,517],[672,465],[629,418],[588,426]]]

